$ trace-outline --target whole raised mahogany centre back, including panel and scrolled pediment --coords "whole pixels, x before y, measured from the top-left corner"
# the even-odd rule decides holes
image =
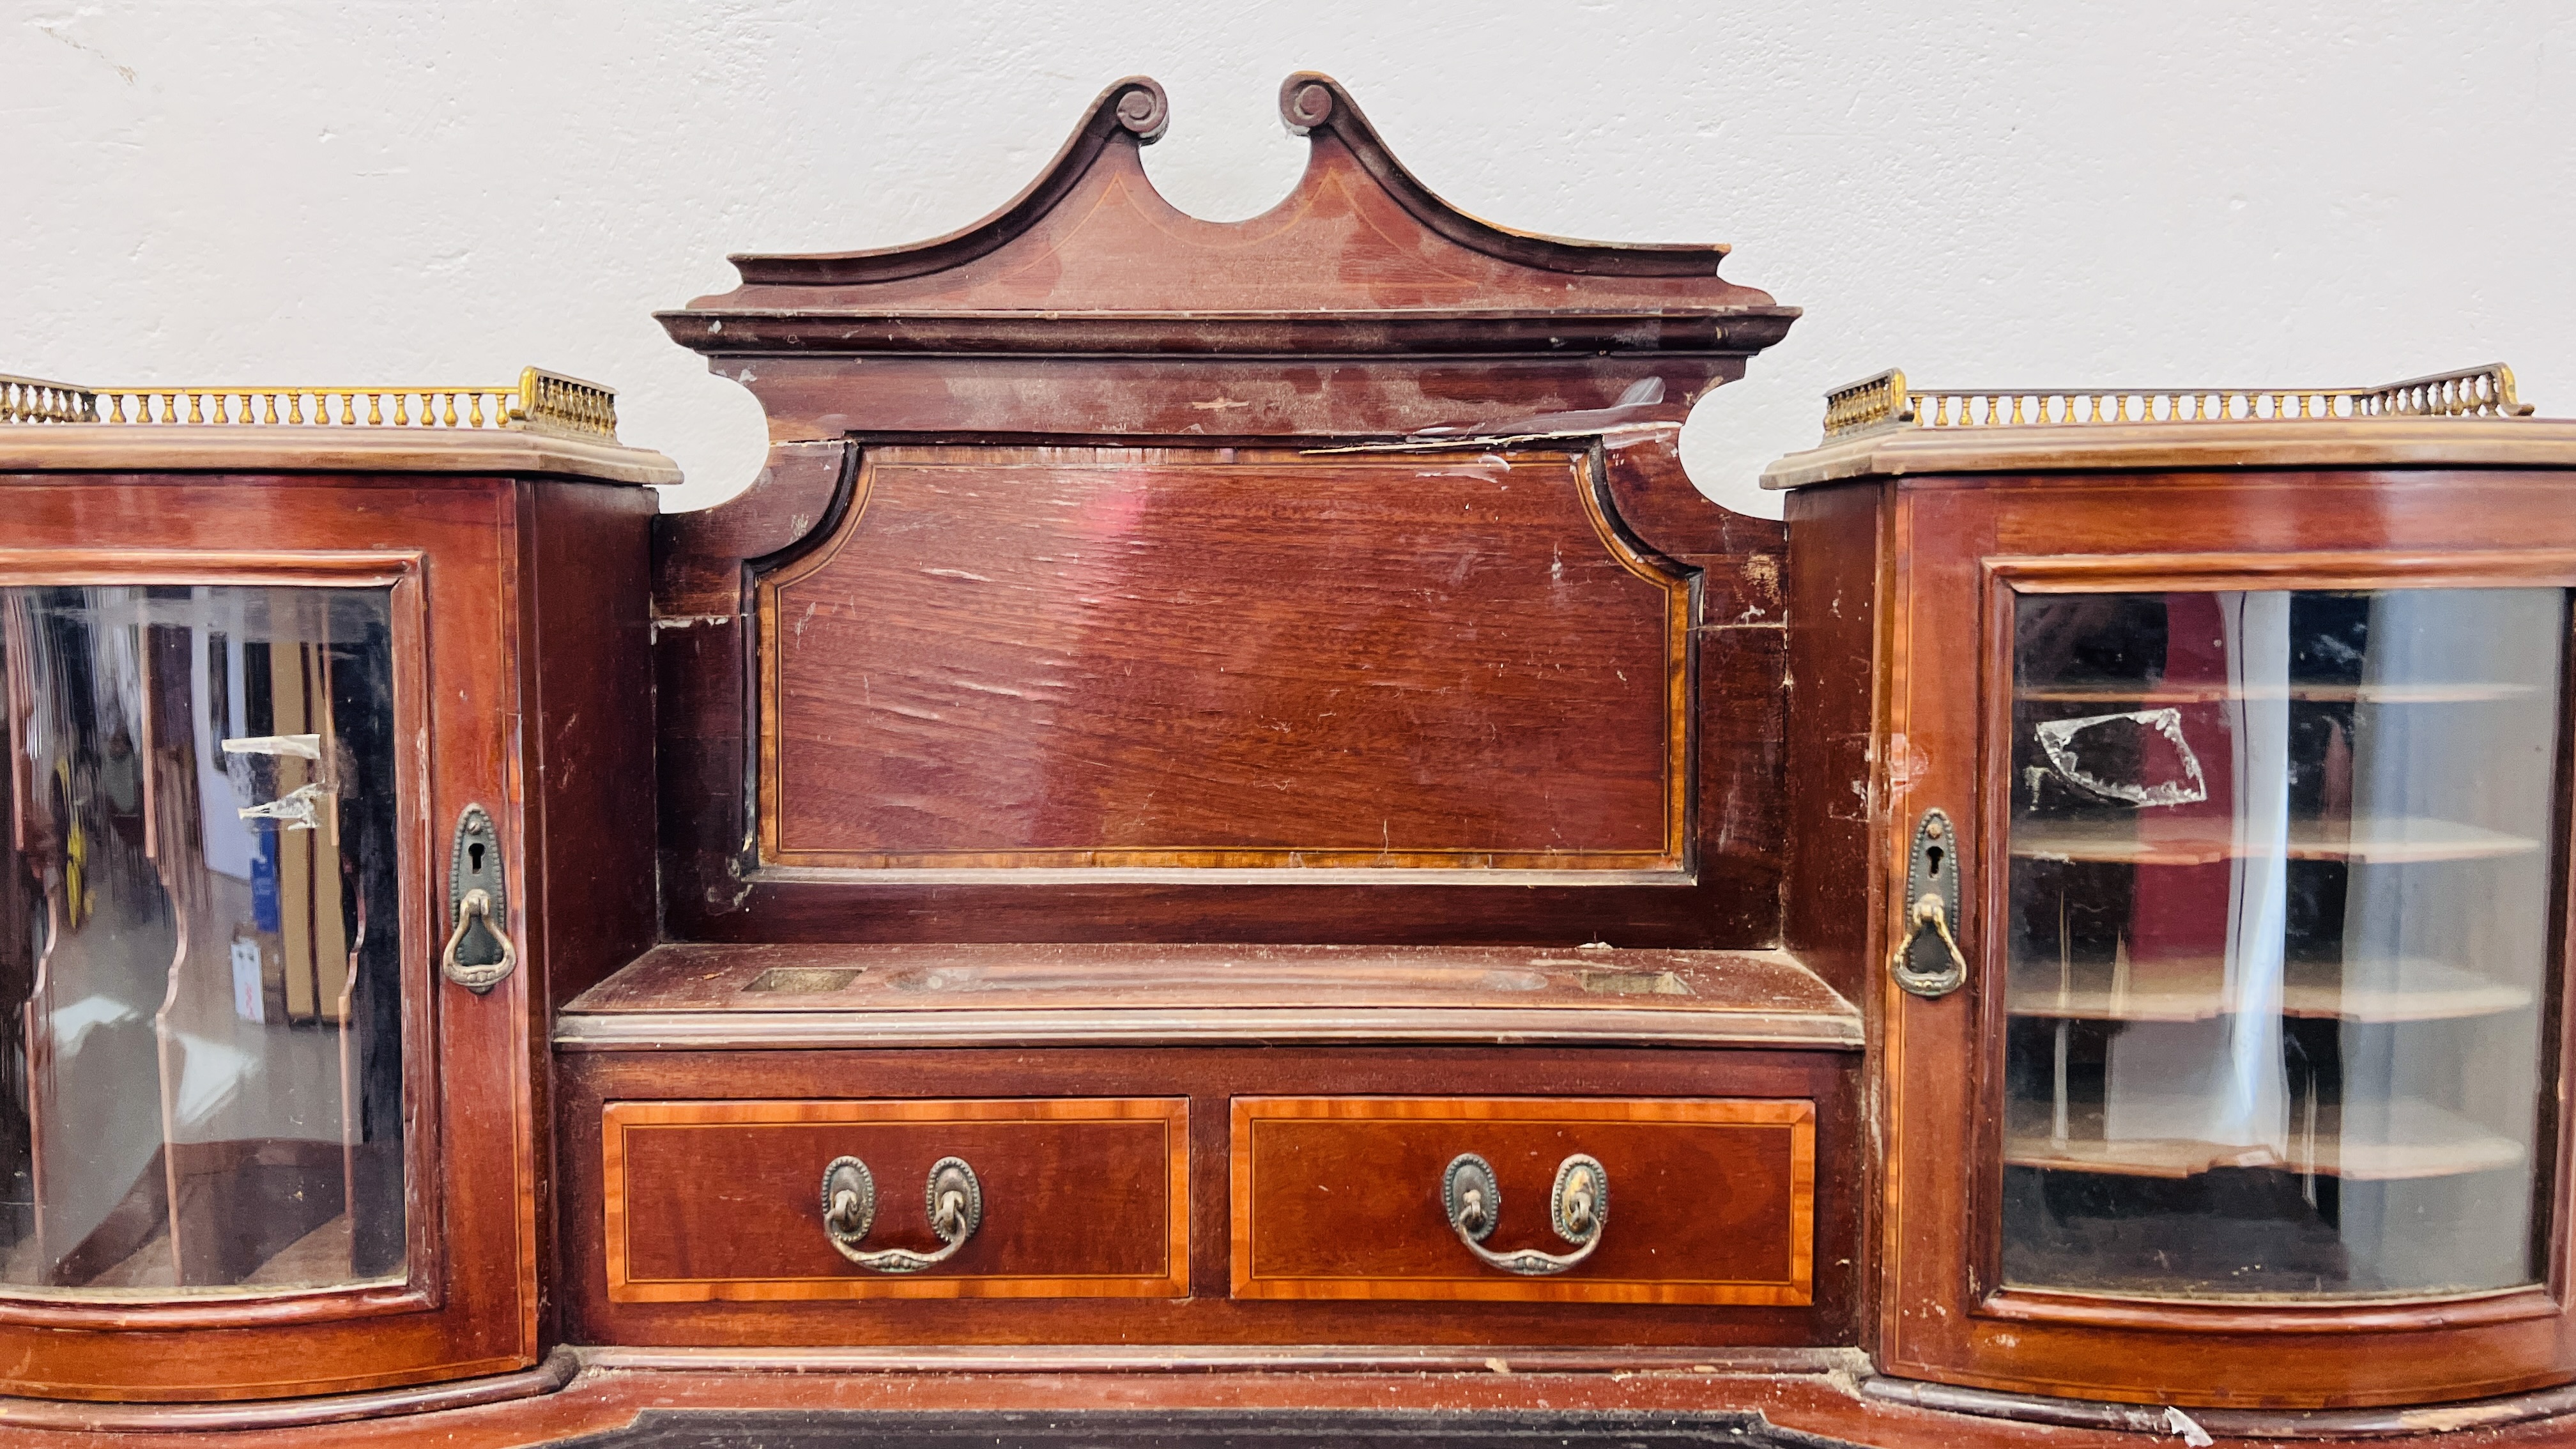
[[[1154,193],[1167,103],[1131,77],[984,222],[737,258],[662,315],[773,438],[760,485],[657,529],[672,938],[1777,946],[1780,526],[1710,505],[1677,436],[1795,309],[1723,248],[1466,217],[1329,77],[1280,113],[1309,170],[1257,219]],[[858,485],[920,449],[1291,472],[994,480],[976,511]],[[1540,454],[1566,487],[1517,482]],[[842,534],[899,567],[762,624],[755,580]],[[1345,709],[1334,660],[1394,688]]]

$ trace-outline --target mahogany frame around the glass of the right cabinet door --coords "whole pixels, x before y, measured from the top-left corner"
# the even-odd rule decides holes
[[[1880,492],[1886,601],[1878,639],[1883,812],[1875,871],[1901,882],[1914,820],[1973,822],[1963,946],[1971,990],[1917,1000],[1886,982],[1901,931],[1893,884],[1875,908],[1886,1083],[1880,1364],[1973,1387],[2130,1403],[2336,1408],[2486,1397],[2568,1382],[2568,1114],[2543,1119],[2540,1284],[2385,1299],[2148,1299],[2002,1287],[2004,825],[2012,724],[2012,593],[2174,588],[2576,585],[2576,531],[2530,474],[1914,477]],[[2154,490],[2154,492],[2146,492]],[[2372,500],[2372,508],[2357,508]],[[2555,547],[2494,549],[2491,539]],[[2038,544],[2038,547],[2032,547]],[[2563,655],[2568,657],[2568,655]],[[2563,665],[2566,668],[2566,665]],[[2561,980],[2568,908],[2568,696],[2561,678],[2550,964],[2543,1073],[2571,1057]],[[1940,1080],[1950,1073],[1958,1080]],[[2548,1111],[2548,1106],[2545,1106]],[[2221,1364],[2264,1354],[2264,1372]],[[2391,1364],[2403,1364],[2391,1374]]]

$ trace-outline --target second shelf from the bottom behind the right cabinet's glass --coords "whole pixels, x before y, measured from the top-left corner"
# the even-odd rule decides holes
[[[2110,964],[2087,964],[2081,985],[2063,987],[2056,962],[2017,962],[2007,1011],[2063,1021],[2210,1021],[2233,1011],[2226,962],[2218,957],[2130,962],[2117,990],[2102,980]],[[2342,1021],[2452,1021],[2522,1011],[2532,993],[2481,977],[2450,962],[2406,959],[2370,975],[2401,985],[2352,985],[2336,964],[2293,964],[2282,982],[2282,1016]]]

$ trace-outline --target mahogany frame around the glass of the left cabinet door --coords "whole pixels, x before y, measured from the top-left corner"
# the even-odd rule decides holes
[[[0,585],[392,588],[402,882],[404,1271],[399,1281],[77,1302],[0,1294],[0,1392],[242,1400],[500,1374],[541,1356],[538,1145],[528,1134],[536,861],[513,766],[520,678],[518,482],[507,477],[85,474],[10,480]],[[353,513],[350,492],[379,511]],[[332,500],[332,503],[322,503]],[[108,518],[118,547],[85,544]],[[227,547],[260,536],[263,549]],[[23,541],[23,547],[18,547]],[[435,608],[435,611],[433,611]],[[482,802],[510,871],[520,969],[484,998],[438,975],[443,828]],[[461,1137],[464,1122],[489,1122]]]

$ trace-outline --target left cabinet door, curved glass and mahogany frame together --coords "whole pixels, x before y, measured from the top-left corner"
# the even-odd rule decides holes
[[[500,547],[0,552],[10,1392],[528,1361]]]

